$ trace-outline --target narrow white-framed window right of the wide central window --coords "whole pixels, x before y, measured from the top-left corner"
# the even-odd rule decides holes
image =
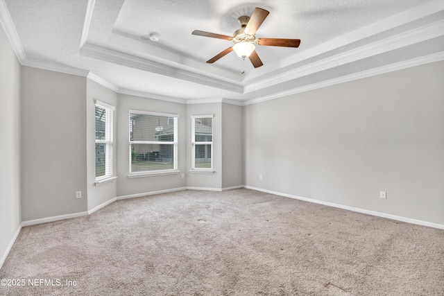
[[[213,115],[191,116],[191,169],[212,171]]]

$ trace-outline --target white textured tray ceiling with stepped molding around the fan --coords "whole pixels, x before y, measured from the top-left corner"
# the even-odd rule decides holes
[[[205,63],[232,42],[191,32],[232,35],[256,7],[270,12],[256,37],[299,48],[257,46],[256,69],[235,53]],[[0,9],[22,64],[188,103],[254,103],[444,60],[443,0],[0,0]]]

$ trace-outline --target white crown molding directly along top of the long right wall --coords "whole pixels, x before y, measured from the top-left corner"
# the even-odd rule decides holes
[[[384,74],[384,73],[388,73],[388,72],[393,72],[393,71],[398,71],[398,70],[402,70],[402,69],[407,69],[410,67],[416,67],[416,66],[420,66],[422,64],[428,64],[431,62],[439,62],[441,60],[444,60],[444,52],[440,52],[440,53],[434,53],[432,55],[425,55],[422,56],[420,58],[414,58],[411,60],[406,60],[406,61],[402,61],[402,62],[397,62],[394,64],[388,64],[386,66],[382,66],[382,67],[377,67],[374,69],[369,69],[366,71],[361,71],[361,72],[357,72],[357,73],[353,73],[350,75],[346,75],[346,76],[342,76],[339,78],[334,78],[334,79],[330,79],[330,80],[325,80],[322,82],[318,82],[318,83],[314,83],[311,85],[305,85],[303,87],[298,87],[296,89],[289,89],[287,91],[284,92],[279,92],[276,94],[272,94],[272,95],[268,95],[268,96],[262,96],[260,98],[254,98],[252,100],[248,100],[244,102],[244,105],[253,105],[256,103],[261,103],[264,101],[270,101],[270,100],[274,100],[275,98],[282,98],[284,96],[289,96],[292,94],[299,94],[301,92],[308,92],[314,89],[320,89],[323,87],[329,87],[332,85],[338,85],[340,83],[343,82],[349,82],[349,81],[353,81],[353,80],[358,80],[361,78],[367,78],[370,76],[376,76],[379,74]]]

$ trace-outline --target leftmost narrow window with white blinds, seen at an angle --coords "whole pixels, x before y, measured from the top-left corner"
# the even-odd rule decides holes
[[[96,180],[112,177],[112,113],[114,107],[96,103]]]

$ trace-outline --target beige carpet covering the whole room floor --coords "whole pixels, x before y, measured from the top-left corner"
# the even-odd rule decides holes
[[[0,295],[444,295],[444,231],[248,189],[180,191],[24,227],[0,279],[26,281]]]

